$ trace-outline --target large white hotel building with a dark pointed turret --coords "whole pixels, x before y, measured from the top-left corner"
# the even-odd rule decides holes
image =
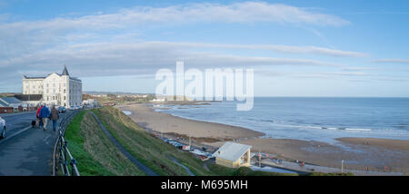
[[[42,94],[40,103],[48,106],[73,108],[83,102],[83,83],[71,77],[64,66],[62,74],[50,73],[45,77],[23,76],[23,94]]]

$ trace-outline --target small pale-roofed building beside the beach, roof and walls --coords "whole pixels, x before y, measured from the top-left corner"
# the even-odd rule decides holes
[[[235,142],[226,142],[219,150],[213,154],[216,164],[230,167],[249,167],[250,165],[250,149],[249,145],[244,145]]]

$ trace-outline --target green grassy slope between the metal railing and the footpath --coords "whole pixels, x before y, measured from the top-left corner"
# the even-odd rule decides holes
[[[81,175],[144,175],[116,149],[87,111],[71,121],[65,139]]]

